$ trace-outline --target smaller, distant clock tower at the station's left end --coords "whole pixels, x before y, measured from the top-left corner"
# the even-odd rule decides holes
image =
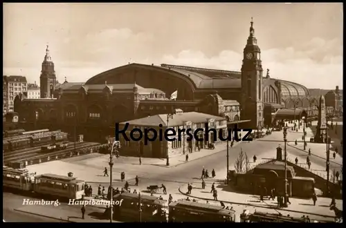
[[[46,55],[42,62],[41,77],[39,77],[39,86],[41,98],[53,97],[53,91],[57,83],[57,77],[55,76],[54,63],[52,57],[49,54],[48,45],[46,48]]]

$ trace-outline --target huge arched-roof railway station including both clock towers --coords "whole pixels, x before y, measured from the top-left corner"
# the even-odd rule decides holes
[[[318,99],[305,86],[263,71],[253,21],[240,71],[129,63],[86,82],[65,79],[57,84],[47,47],[40,77],[42,98],[18,95],[15,111],[24,129],[62,129],[82,134],[86,141],[99,141],[114,135],[115,123],[172,113],[176,108],[224,117],[228,124],[253,129],[271,126],[281,109],[316,110]],[[171,100],[174,91],[177,97]]]

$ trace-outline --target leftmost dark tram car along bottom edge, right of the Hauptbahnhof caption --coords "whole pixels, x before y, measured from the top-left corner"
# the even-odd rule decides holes
[[[113,196],[113,200],[122,200],[121,205],[113,205],[113,218],[121,221],[138,220],[139,202],[142,209],[142,222],[167,222],[165,204],[167,200],[160,200],[156,196],[140,196],[135,193],[120,193]]]

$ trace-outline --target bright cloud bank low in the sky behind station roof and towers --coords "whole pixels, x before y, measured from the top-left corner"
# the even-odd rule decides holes
[[[215,56],[208,56],[201,50],[181,50],[176,55],[165,54],[156,44],[158,37],[145,32],[134,32],[129,28],[100,30],[84,37],[71,35],[60,38],[60,43],[50,45],[60,81],[67,77],[69,82],[86,82],[98,73],[125,65],[129,61],[220,70],[240,71],[242,67],[243,54],[234,50],[221,50]],[[12,54],[4,57],[4,74],[25,75],[29,82],[38,82],[46,48],[44,40],[33,39],[33,46],[30,46],[31,43],[21,46],[20,58],[17,55],[20,48],[17,52],[8,50]],[[264,70],[270,69],[273,78],[297,82],[307,88],[328,89],[335,88],[336,85],[341,88],[342,47],[338,39],[316,37],[307,43],[287,48],[262,50],[262,66]],[[30,53],[30,56],[25,56],[24,53]]]

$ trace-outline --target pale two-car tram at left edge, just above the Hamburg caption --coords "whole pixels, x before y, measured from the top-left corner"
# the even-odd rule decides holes
[[[84,194],[84,180],[55,174],[35,175],[27,169],[3,167],[3,187],[34,192],[42,196],[80,200]]]

